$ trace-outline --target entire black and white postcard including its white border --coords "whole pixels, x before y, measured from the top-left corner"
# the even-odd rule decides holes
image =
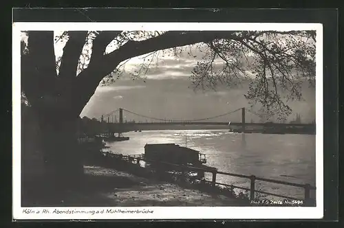
[[[14,218],[322,217],[321,24],[12,27]]]

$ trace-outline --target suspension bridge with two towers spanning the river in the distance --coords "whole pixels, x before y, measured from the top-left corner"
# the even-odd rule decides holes
[[[98,120],[105,124],[103,131],[125,133],[133,130],[169,130],[172,126],[183,126],[182,129],[192,129],[195,126],[222,126],[221,128],[242,133],[305,133],[315,134],[315,124],[290,124],[274,122],[246,122],[249,114],[264,119],[264,115],[255,113],[245,107],[228,111],[220,115],[201,119],[162,119],[142,115],[127,109],[118,108]],[[131,118],[130,118],[131,116]],[[118,118],[117,118],[118,117]],[[135,120],[133,120],[135,119]],[[139,120],[138,120],[139,119]],[[241,119],[241,122],[231,122],[230,119]],[[195,125],[195,126],[191,126]],[[189,127],[188,127],[189,126]],[[201,127],[202,128],[202,127]]]

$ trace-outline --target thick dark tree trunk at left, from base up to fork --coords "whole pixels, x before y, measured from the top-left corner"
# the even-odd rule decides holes
[[[30,32],[28,52],[21,52],[22,89],[37,118],[40,133],[39,149],[43,154],[43,170],[32,167],[34,165],[23,166],[26,170],[22,170],[23,173],[30,174],[34,172],[28,172],[28,169],[40,170],[43,172],[43,179],[41,176],[35,179],[32,175],[27,178],[30,181],[24,181],[23,187],[28,187],[33,193],[37,190],[33,198],[38,200],[43,196],[48,202],[63,201],[61,194],[78,187],[79,182],[83,180],[80,178],[83,175],[83,161],[78,151],[76,124],[88,100],[84,98],[83,89],[78,89],[84,85],[76,86],[75,72],[80,53],[70,52],[69,48],[80,52],[85,43],[85,34],[87,32],[81,34],[81,45],[77,48],[73,49],[75,44],[69,44],[68,48],[64,49],[65,55],[72,55],[76,59],[72,62],[72,57],[64,56],[60,69],[63,73],[61,77],[56,75],[54,32]],[[74,41],[73,38],[70,40]],[[92,94],[87,95],[90,97]],[[26,145],[28,144],[30,141]],[[23,148],[23,151],[25,150],[28,151],[28,148]],[[54,197],[54,194],[58,197]]]

